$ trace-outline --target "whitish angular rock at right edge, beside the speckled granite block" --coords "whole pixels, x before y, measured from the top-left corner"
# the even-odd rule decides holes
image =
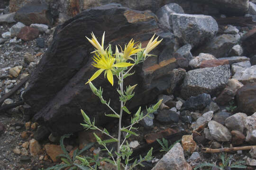
[[[256,82],[256,65],[245,69],[239,69],[236,74],[232,77],[237,79],[239,82],[246,85],[247,83]]]

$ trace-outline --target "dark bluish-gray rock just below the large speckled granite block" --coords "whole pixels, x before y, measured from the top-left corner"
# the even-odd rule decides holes
[[[184,103],[184,107],[187,110],[203,110],[211,102],[210,94],[199,94],[192,96]]]

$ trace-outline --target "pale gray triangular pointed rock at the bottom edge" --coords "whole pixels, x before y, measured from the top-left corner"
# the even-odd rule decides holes
[[[184,158],[181,144],[177,143],[156,163],[152,170],[192,170],[192,167]]]

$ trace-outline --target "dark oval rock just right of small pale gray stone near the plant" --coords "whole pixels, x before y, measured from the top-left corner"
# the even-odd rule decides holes
[[[162,110],[157,114],[156,120],[165,123],[176,123],[179,121],[179,115],[173,110]]]

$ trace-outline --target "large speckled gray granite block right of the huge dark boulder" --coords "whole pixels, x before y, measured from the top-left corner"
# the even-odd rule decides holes
[[[225,87],[229,77],[229,65],[188,71],[182,85],[181,94],[185,99],[202,93],[214,96]]]

